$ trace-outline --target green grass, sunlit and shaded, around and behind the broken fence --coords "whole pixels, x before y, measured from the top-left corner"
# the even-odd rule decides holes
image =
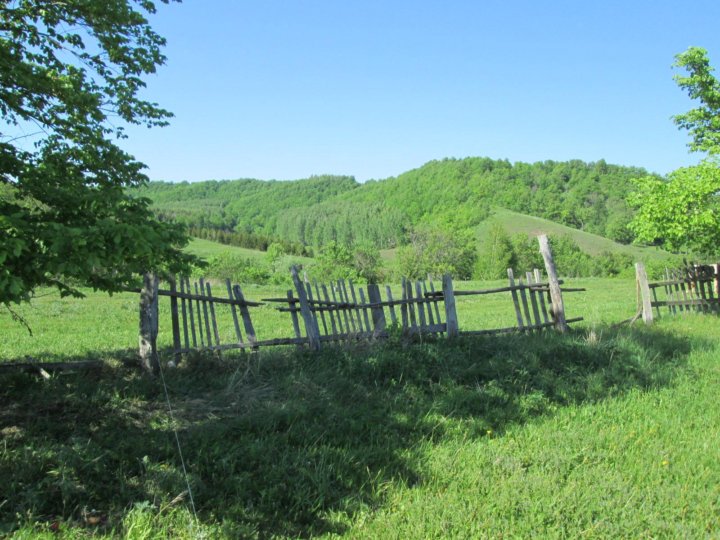
[[[1,361],[108,362],[0,376],[0,534],[720,535],[718,318],[613,327],[634,314],[632,281],[569,284],[587,288],[566,295],[586,321],[567,336],[192,356],[165,373],[174,417],[161,382],[126,365],[137,295],[40,296],[21,310],[33,337],[0,315]],[[512,320],[508,298],[483,298],[459,299],[461,327]],[[257,315],[268,336],[286,323]]]

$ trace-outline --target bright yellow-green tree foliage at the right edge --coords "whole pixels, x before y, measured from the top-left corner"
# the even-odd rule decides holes
[[[629,202],[637,214],[629,224],[636,241],[659,244],[672,251],[717,253],[720,245],[720,81],[713,75],[707,51],[691,47],[676,56],[680,88],[700,105],[674,117],[690,132],[692,151],[708,157],[694,167],[673,171],[666,180],[650,176],[636,180]]]

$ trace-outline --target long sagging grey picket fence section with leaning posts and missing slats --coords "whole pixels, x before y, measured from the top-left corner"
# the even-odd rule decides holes
[[[565,331],[568,323],[582,317],[566,319],[562,292],[584,289],[561,289],[557,279],[547,239],[540,239],[545,257],[547,281],[540,270],[525,274],[516,280],[508,269],[508,286],[496,289],[455,291],[450,275],[442,283],[432,279],[411,281],[403,279],[401,294],[393,296],[389,286],[358,286],[352,281],[338,280],[328,284],[301,280],[298,269],[291,269],[294,290],[283,298],[264,298],[262,302],[249,301],[239,285],[225,282],[226,297],[213,293],[211,284],[204,279],[190,283],[187,278],[169,282],[169,289],[160,289],[158,279],[145,276],[140,306],[140,357],[148,370],[157,371],[158,298],[170,297],[173,333],[173,355],[177,363],[181,355],[194,350],[224,351],[251,349],[270,345],[309,346],[319,350],[326,342],[346,342],[358,339],[380,339],[388,336],[390,327],[405,335],[441,335],[452,338],[460,334],[498,334],[518,331],[538,331],[555,327]],[[504,328],[460,328],[456,296],[479,296],[510,293],[516,325]],[[383,294],[384,293],[384,294]],[[251,310],[266,303],[279,304],[276,308],[287,313],[293,336],[259,340],[252,322]],[[218,331],[218,312],[230,311],[232,340],[221,343]],[[242,321],[243,330],[240,327]],[[301,324],[302,321],[302,324]]]

